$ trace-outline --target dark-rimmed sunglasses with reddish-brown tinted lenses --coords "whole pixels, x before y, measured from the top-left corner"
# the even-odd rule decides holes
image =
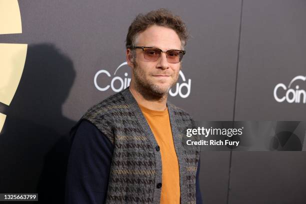
[[[148,61],[156,61],[160,58],[162,52],[165,52],[167,61],[169,63],[178,63],[181,61],[183,55],[186,53],[185,50],[178,50],[178,49],[170,49],[167,51],[162,51],[156,47],[145,47],[145,46],[134,46],[131,48],[138,48],[142,49],[143,57]]]

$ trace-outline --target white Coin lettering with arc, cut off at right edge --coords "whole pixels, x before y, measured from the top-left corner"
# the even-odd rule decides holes
[[[306,76],[295,76],[288,86],[278,83],[273,95],[277,102],[306,103]]]

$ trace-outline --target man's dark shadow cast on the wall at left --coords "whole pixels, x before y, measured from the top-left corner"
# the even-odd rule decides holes
[[[36,192],[39,203],[63,203],[68,132],[75,121],[62,115],[61,106],[74,78],[72,61],[54,45],[28,46],[18,89],[4,111],[1,193]]]

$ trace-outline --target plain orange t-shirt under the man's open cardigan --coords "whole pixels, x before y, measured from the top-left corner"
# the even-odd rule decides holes
[[[160,203],[179,204],[179,167],[173,143],[168,108],[163,111],[156,111],[141,105],[139,107],[160,147],[162,165]]]

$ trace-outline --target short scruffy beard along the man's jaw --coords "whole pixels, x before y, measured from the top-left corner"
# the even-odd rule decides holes
[[[180,70],[179,66],[179,70]],[[178,70],[178,71],[179,71]],[[132,69],[132,74],[135,79],[136,89],[140,94],[142,94],[146,98],[161,98],[166,96],[170,90],[170,88],[175,85],[176,81],[178,80],[178,72],[174,79],[167,85],[158,85],[154,84],[149,78],[145,78],[145,73],[143,69],[141,69],[137,63],[134,63],[134,68]],[[158,73],[160,74],[160,73]],[[167,72],[163,72],[162,74],[167,74]],[[152,77],[152,76],[151,76]],[[161,82],[165,81],[164,79],[160,79]]]

